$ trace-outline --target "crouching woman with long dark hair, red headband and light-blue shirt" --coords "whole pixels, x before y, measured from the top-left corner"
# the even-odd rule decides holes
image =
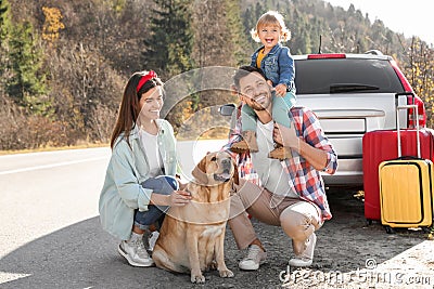
[[[118,252],[132,266],[153,265],[143,234],[162,222],[169,206],[190,200],[174,178],[176,143],[170,123],[159,119],[162,106],[163,82],[156,74],[133,74],[120,103],[100,195],[102,226],[122,239]]]

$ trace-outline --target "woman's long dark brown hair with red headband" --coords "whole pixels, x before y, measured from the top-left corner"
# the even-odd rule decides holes
[[[154,71],[135,73],[128,80],[124,96],[120,102],[119,114],[117,116],[116,126],[112,133],[110,147],[114,147],[117,137],[124,133],[129,145],[129,134],[136,126],[136,120],[140,114],[139,102],[143,93],[150,91],[157,86],[163,87],[162,80]]]

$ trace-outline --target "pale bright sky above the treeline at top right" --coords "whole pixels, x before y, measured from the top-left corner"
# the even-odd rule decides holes
[[[384,26],[405,37],[418,36],[434,45],[434,0],[324,0],[334,6],[348,10],[353,3],[373,23],[381,19]]]

